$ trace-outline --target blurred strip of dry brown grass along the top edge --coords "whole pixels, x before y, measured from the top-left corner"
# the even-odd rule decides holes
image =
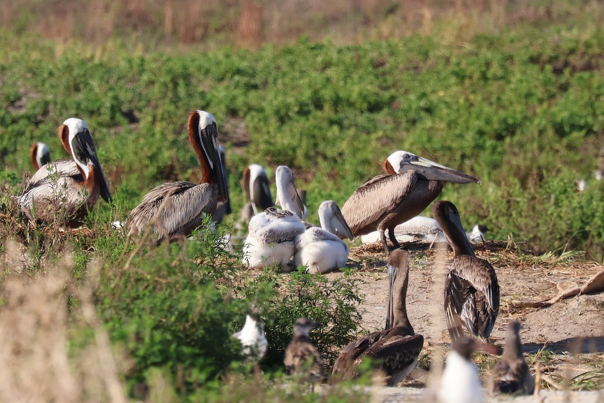
[[[476,33],[535,22],[565,22],[580,10],[602,15],[586,1],[493,0],[3,0],[0,26],[43,37],[100,44],[112,36],[143,42],[258,47],[329,37],[336,44],[437,33],[449,42]]]

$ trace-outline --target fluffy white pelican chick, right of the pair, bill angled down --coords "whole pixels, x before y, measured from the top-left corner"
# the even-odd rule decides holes
[[[333,200],[319,206],[321,228],[310,227],[296,237],[295,266],[307,266],[311,273],[327,273],[346,265],[350,247],[339,236],[353,239],[352,231]]]

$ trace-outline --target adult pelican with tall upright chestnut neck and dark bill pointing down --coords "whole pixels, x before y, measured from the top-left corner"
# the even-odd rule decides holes
[[[201,164],[201,184],[172,182],[152,189],[130,212],[129,236],[140,234],[149,224],[153,224],[153,231],[158,234],[158,243],[188,236],[199,227],[204,213],[212,214],[219,200],[228,201],[216,119],[208,112],[193,111],[187,129]]]

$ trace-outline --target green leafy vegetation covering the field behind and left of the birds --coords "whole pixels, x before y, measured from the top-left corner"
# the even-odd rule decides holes
[[[304,395],[281,373],[297,317],[324,325],[310,336],[330,364],[347,341],[372,330],[360,326],[353,270],[335,280],[245,271],[240,250],[220,247],[236,213],[216,234],[201,229],[193,242],[159,248],[139,248],[111,227],[155,185],[199,179],[185,132],[193,109],[217,118],[234,211],[245,202],[239,181],[247,164],[269,173],[291,167],[316,222],[321,201],[344,204],[381,173],[381,161],[404,149],[481,178],[481,186],[447,185],[440,196],[458,206],[467,229],[480,222],[489,237],[525,241],[523,248],[545,253],[545,263],[579,259],[576,250],[604,259],[604,181],[593,177],[604,169],[598,24],[515,31],[500,24],[464,42],[445,40],[439,25],[434,35],[359,45],[304,38],[257,51],[202,52],[155,51],[120,38],[103,45],[45,40],[24,33],[37,21],[26,14],[14,20],[19,34],[0,28],[0,320],[14,325],[0,326],[0,335],[15,329],[2,340],[16,346],[0,356],[19,352],[42,363],[39,373],[48,377],[40,384],[48,382],[45,390],[62,400],[118,401],[117,384],[130,398],[151,401],[366,401],[345,388],[328,398]],[[56,127],[72,116],[91,127],[115,204],[100,202],[87,219],[90,230],[28,227],[9,195],[31,172],[34,141],[47,143],[53,158],[66,158]],[[584,192],[576,190],[581,178]],[[262,308],[269,338],[264,375],[252,375],[229,337],[252,303]],[[42,326],[40,333],[28,333],[19,315]],[[43,331],[53,346],[21,349],[41,343]],[[89,368],[68,379],[76,388],[71,394],[59,388],[67,378],[51,368],[57,355]],[[422,356],[423,366],[430,361]],[[16,378],[30,369],[21,370],[14,368]],[[573,382],[594,387],[601,373]],[[51,392],[29,400],[51,400]]]

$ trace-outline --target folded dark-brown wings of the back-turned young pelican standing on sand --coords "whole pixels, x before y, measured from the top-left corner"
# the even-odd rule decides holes
[[[455,257],[445,283],[449,329],[458,325],[458,315],[474,335],[489,337],[499,312],[499,294],[495,269],[486,260]]]

